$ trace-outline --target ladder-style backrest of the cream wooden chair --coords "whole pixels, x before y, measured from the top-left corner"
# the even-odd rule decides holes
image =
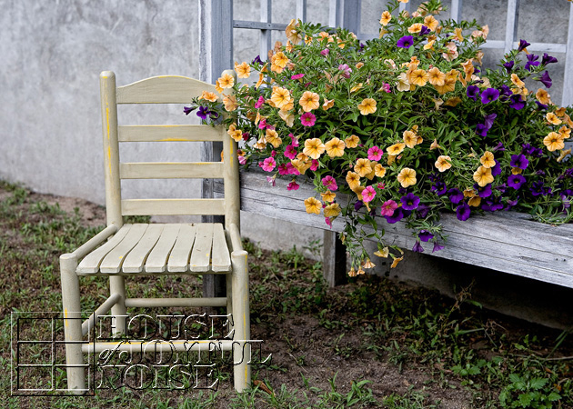
[[[235,75],[232,70],[227,74]],[[106,165],[107,224],[123,224],[123,215],[155,214],[222,214],[225,224],[239,225],[239,182],[236,142],[222,125],[117,125],[118,104],[188,104],[191,98],[209,85],[185,76],[154,76],[136,83],[116,87],[116,75],[104,71],[100,75],[102,127]],[[139,162],[121,163],[119,143],[129,142],[223,142],[224,161],[200,162]],[[223,199],[129,199],[121,196],[122,179],[209,178],[223,179]]]

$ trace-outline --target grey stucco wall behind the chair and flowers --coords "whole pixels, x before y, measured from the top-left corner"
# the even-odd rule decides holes
[[[412,2],[412,8],[419,1]],[[521,2],[518,38],[530,42],[565,43],[568,27],[566,0]],[[327,24],[327,2],[308,0],[307,19]],[[358,5],[358,2],[357,2]],[[360,31],[377,33],[377,20],[385,2],[363,0]],[[449,5],[445,1],[444,5]],[[272,19],[287,23],[295,15],[296,0],[272,2]],[[476,18],[490,27],[490,38],[505,36],[504,0],[466,0],[463,17]],[[118,85],[152,75],[198,77],[198,1],[175,0],[0,0],[0,178],[27,185],[41,193],[82,197],[104,204],[103,153],[98,75],[116,72]],[[236,0],[235,18],[256,19],[259,0]],[[444,17],[448,17],[448,12]],[[250,61],[258,54],[256,30],[234,30],[236,61]],[[273,40],[284,34],[274,32]],[[487,64],[495,65],[501,52],[488,50]],[[551,95],[560,101],[563,55],[553,66]],[[196,123],[182,114],[182,106],[120,107],[132,121],[150,124],[161,115],[180,124]],[[193,116],[193,115],[190,115]],[[161,122],[159,122],[161,123]],[[123,146],[124,161],[193,161],[198,146],[146,144]],[[126,197],[199,195],[197,181],[169,182],[159,190],[156,181],[125,181]],[[290,247],[320,231],[286,234],[287,224],[262,223],[244,214],[244,233],[269,247]],[[254,223],[250,223],[253,221]],[[256,222],[256,223],[255,223]],[[291,226],[292,227],[292,226]],[[280,234],[280,232],[285,234]],[[276,234],[279,232],[279,234]]]

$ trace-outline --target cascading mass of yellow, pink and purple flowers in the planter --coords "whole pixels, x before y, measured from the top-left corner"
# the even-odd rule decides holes
[[[316,195],[301,206],[327,224],[346,218],[351,275],[374,265],[366,238],[393,267],[402,260],[384,224],[406,223],[412,250],[423,252],[422,243],[443,248],[442,212],[460,221],[512,208],[547,223],[573,219],[573,111],[548,94],[557,59],[528,53],[521,40],[498,70],[484,70],[487,25],[438,20],[439,0],[412,14],[397,9],[390,2],[379,38],[366,44],[293,20],[267,62],[236,64],[239,79],[258,73],[255,85],[224,75],[217,90],[233,95],[201,95],[186,114],[225,117],[242,141],[239,162],[270,181],[289,178],[292,190],[313,179]]]

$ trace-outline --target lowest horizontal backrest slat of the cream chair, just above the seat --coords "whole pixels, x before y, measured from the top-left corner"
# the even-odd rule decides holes
[[[122,214],[225,214],[225,199],[126,199]]]

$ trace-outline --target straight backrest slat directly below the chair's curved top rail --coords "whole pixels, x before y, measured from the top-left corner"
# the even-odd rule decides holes
[[[122,125],[119,142],[203,142],[223,141],[222,126],[210,125]]]

